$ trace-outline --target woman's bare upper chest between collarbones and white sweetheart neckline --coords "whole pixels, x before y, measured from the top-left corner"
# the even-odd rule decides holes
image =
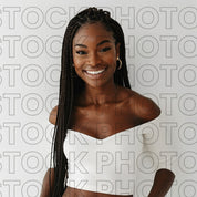
[[[95,138],[105,138],[141,124],[135,114],[118,106],[73,111],[69,128]]]

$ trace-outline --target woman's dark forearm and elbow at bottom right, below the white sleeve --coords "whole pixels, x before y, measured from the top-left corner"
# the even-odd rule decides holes
[[[175,175],[173,172],[168,169],[158,169],[148,197],[164,197],[172,187]]]

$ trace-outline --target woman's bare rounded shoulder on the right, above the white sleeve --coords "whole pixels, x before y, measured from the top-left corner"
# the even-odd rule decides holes
[[[131,89],[123,89],[124,95],[126,97],[125,108],[129,108],[131,113],[142,120],[142,122],[147,122],[156,118],[160,114],[159,106],[149,97],[146,97]]]

